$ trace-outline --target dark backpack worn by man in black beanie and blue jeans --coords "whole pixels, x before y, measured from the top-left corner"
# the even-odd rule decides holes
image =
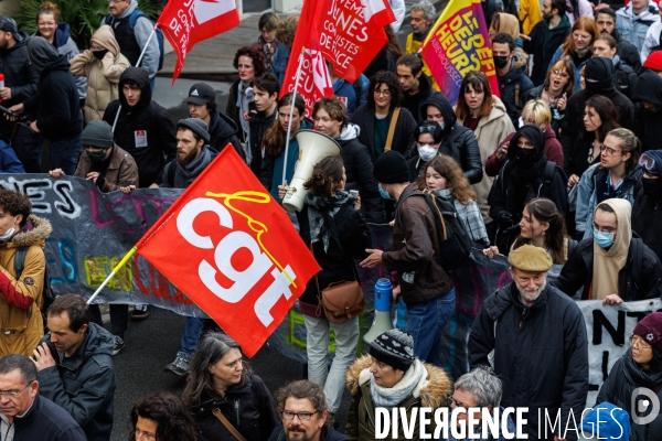
[[[395,209],[395,217],[402,227],[399,207],[412,196],[423,196],[435,216],[439,243],[435,247],[435,261],[446,272],[458,268],[471,254],[471,239],[452,202],[435,196],[431,192],[410,192],[402,197]]]

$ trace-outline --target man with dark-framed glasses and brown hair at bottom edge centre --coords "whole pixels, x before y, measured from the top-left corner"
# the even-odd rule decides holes
[[[290,383],[276,395],[282,426],[274,429],[269,441],[346,441],[335,431],[327,411],[322,387],[301,379]]]

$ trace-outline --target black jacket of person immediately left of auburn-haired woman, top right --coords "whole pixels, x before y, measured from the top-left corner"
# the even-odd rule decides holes
[[[565,14],[554,29],[549,29],[548,20],[540,21],[533,26],[531,34],[528,34],[531,41],[524,41],[524,51],[533,55],[531,80],[534,86],[545,83],[545,75],[547,74],[552,55],[565,42],[569,33],[570,21]]]

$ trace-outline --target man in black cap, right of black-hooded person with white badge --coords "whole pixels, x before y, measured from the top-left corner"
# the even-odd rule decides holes
[[[231,118],[216,110],[216,93],[205,83],[195,83],[189,89],[189,96],[184,101],[189,105],[191,118],[199,118],[209,127],[210,147],[218,153],[232,143],[242,157],[246,159],[239,138],[237,138],[237,125]]]

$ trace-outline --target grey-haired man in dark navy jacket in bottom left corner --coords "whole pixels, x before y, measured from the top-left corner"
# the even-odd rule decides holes
[[[36,368],[24,355],[0,358],[0,438],[85,441],[78,423],[60,406],[40,396]]]

